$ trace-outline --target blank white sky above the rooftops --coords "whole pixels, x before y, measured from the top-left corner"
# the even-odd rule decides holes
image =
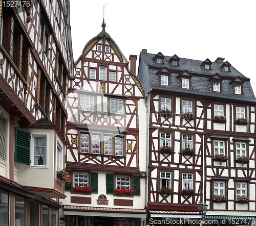
[[[70,0],[74,61],[102,31],[105,4],[105,31],[127,60],[138,55],[137,68],[142,48],[202,61],[222,57],[251,79],[256,95],[255,0]]]

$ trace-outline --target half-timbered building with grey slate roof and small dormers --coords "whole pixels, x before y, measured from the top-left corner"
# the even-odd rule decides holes
[[[208,204],[206,219],[253,223],[256,99],[250,79],[223,60],[140,53],[150,224],[198,219],[199,201]]]

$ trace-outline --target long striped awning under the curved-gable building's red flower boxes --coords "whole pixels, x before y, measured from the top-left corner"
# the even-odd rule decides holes
[[[145,218],[144,209],[119,209],[63,205],[64,215]]]

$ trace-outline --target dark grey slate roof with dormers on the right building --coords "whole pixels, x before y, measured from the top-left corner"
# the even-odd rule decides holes
[[[150,93],[152,89],[162,90],[162,91],[173,91],[179,93],[193,94],[193,95],[204,95],[211,96],[216,98],[228,98],[237,101],[246,101],[256,103],[256,98],[254,96],[252,87],[250,85],[249,79],[245,77],[241,72],[239,72],[232,65],[230,66],[230,72],[223,71],[221,66],[225,62],[212,62],[211,70],[205,70],[202,66],[204,61],[191,60],[180,58],[179,67],[170,65],[169,59],[171,57],[165,56],[163,64],[156,63],[156,60],[153,60],[155,54],[149,53],[140,53],[139,59],[139,70],[138,78],[143,84],[145,93]],[[175,71],[170,74],[170,83],[172,86],[163,86],[158,85],[159,74],[157,72],[163,67],[166,67],[170,71]],[[178,72],[177,72],[178,70]],[[181,74],[184,70],[187,70],[191,75],[190,83],[192,90],[179,88]],[[180,71],[180,73],[179,73]],[[212,76],[218,73],[222,80],[222,90],[223,92],[211,92],[211,81],[209,81]],[[200,77],[197,76],[200,74]],[[203,77],[201,76],[203,75]],[[244,95],[234,95],[233,84],[231,83],[233,79],[240,77],[243,81],[243,93]]]

